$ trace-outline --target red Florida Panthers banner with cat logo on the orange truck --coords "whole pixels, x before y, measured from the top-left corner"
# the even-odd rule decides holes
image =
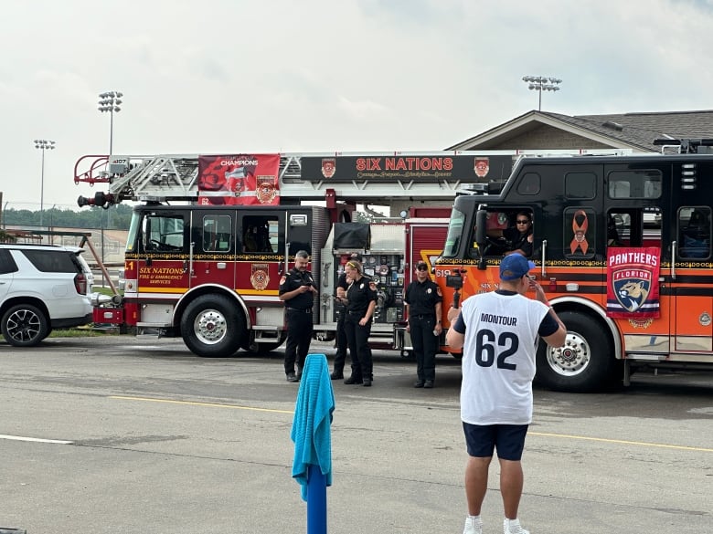
[[[607,316],[622,319],[657,318],[661,251],[655,246],[609,248]]]

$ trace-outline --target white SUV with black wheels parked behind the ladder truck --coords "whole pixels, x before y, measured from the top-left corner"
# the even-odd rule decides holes
[[[76,247],[0,244],[0,330],[11,345],[90,323],[89,292]]]

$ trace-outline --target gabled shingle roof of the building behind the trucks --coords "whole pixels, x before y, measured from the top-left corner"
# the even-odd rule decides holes
[[[461,141],[446,150],[484,150],[503,148],[569,148],[558,146],[519,147],[523,138],[542,126],[568,132],[572,137],[601,143],[614,148],[629,148],[635,152],[659,152],[655,139],[713,139],[713,110],[656,111],[612,113],[604,115],[564,115],[532,110],[513,120]],[[530,139],[530,141],[532,141]],[[545,138],[542,142],[547,142]]]

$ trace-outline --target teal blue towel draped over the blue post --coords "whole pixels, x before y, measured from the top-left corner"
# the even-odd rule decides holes
[[[332,436],[329,426],[335,411],[335,393],[329,378],[329,364],[324,354],[308,354],[304,363],[300,391],[294,407],[293,478],[302,486],[302,498],[307,500],[309,466],[319,466],[332,486]]]

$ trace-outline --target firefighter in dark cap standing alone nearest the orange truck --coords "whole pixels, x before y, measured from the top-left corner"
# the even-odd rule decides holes
[[[409,318],[406,330],[410,333],[413,354],[416,356],[417,380],[415,388],[432,388],[436,380],[436,351],[442,332],[441,288],[429,277],[426,262],[416,264],[416,279],[404,294]]]

